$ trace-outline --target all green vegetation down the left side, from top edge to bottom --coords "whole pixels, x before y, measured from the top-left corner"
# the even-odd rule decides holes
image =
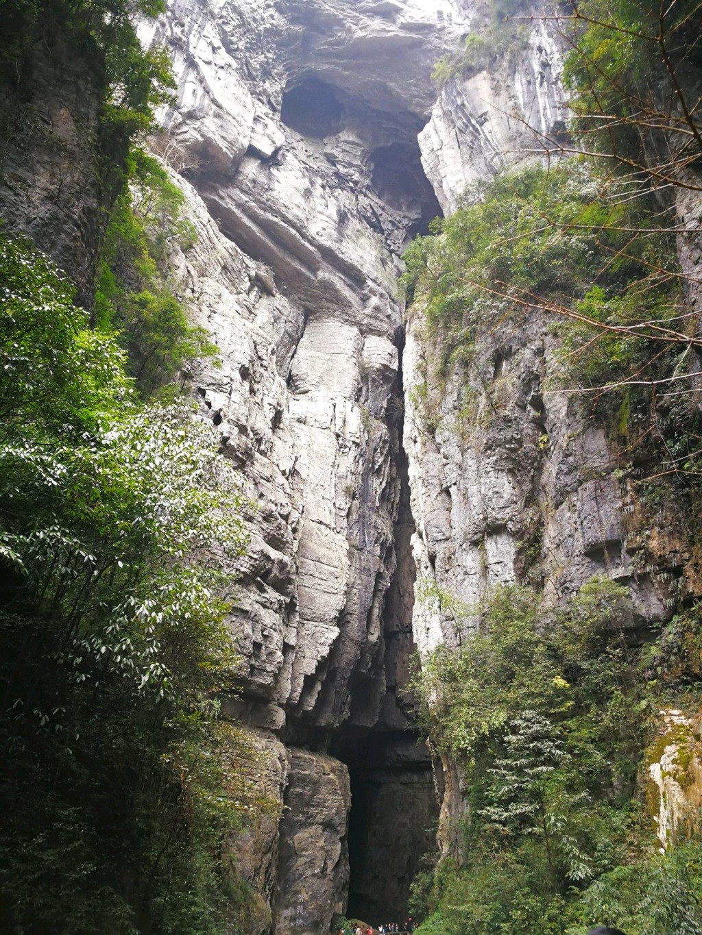
[[[166,256],[195,233],[139,148],[172,86],[133,18],[160,2],[3,6],[2,78],[62,36],[93,63],[105,241],[95,304],[0,230],[0,928],[235,930],[226,841],[266,803],[219,716],[238,659],[217,567],[241,493],[171,381],[215,349]],[[6,29],[7,27],[7,29]],[[223,859],[224,858],[224,859]]]

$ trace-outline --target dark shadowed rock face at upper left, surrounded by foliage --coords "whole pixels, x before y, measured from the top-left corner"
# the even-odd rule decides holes
[[[95,65],[58,31],[26,50],[0,82],[0,207],[7,230],[31,237],[92,301],[104,194],[98,172]]]

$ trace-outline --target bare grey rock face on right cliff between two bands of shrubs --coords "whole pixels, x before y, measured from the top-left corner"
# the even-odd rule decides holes
[[[530,573],[554,601],[606,575],[630,588],[628,626],[661,621],[668,593],[636,560],[643,548],[629,519],[636,501],[616,479],[604,428],[588,422],[578,400],[543,392],[556,366],[553,351],[545,327],[501,326],[481,343],[479,367],[454,373],[440,394],[431,349],[422,345],[419,323],[410,325],[405,379],[412,388],[430,375],[434,413],[428,426],[426,407],[410,389],[405,438],[413,512],[421,518],[417,573],[467,607],[495,584]],[[466,386],[481,394],[469,413]],[[458,630],[470,626],[470,615],[442,619],[431,601],[415,610],[421,650],[456,645]]]

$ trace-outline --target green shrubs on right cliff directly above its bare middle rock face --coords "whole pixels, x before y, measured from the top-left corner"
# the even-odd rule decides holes
[[[702,424],[689,389],[677,391],[695,353],[695,317],[660,211],[619,194],[616,180],[603,189],[582,162],[505,172],[411,244],[404,282],[432,348],[425,380],[437,388],[431,399],[426,386],[415,391],[417,409],[436,424],[436,396],[461,379],[458,427],[469,438],[502,406],[504,381],[483,366],[493,336],[523,342],[532,326],[548,327],[559,340],[546,388],[607,424],[636,482],[645,462],[675,475],[666,496],[691,505],[681,522],[695,536]]]

